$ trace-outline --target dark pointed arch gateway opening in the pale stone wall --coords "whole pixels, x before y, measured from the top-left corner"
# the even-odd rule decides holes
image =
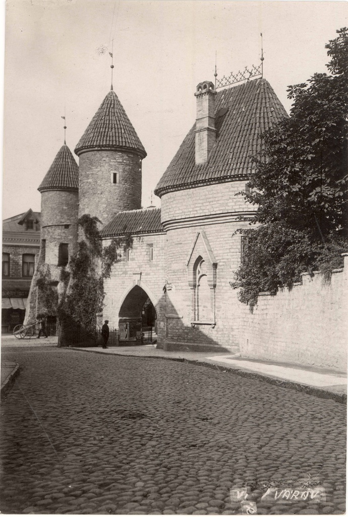
[[[152,342],[156,310],[148,294],[135,285],[124,298],[119,317],[119,341],[146,344]]]

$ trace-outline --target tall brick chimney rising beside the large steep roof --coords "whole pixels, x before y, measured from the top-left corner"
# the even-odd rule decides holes
[[[215,143],[215,89],[211,81],[203,81],[197,85],[196,116],[196,165],[205,163]]]

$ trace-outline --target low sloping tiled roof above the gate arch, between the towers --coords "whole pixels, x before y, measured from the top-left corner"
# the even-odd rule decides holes
[[[114,219],[104,226],[101,236],[159,232],[164,232],[161,224],[161,208],[142,208],[118,212]]]

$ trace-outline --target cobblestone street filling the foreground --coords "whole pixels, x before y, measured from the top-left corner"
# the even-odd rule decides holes
[[[242,486],[259,514],[344,513],[343,404],[171,360],[2,359],[21,367],[1,408],[2,513],[240,514]],[[261,501],[301,483],[326,501]]]

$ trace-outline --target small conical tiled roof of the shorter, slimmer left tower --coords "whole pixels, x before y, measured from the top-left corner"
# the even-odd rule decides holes
[[[38,190],[78,190],[78,165],[69,147],[60,147]]]

